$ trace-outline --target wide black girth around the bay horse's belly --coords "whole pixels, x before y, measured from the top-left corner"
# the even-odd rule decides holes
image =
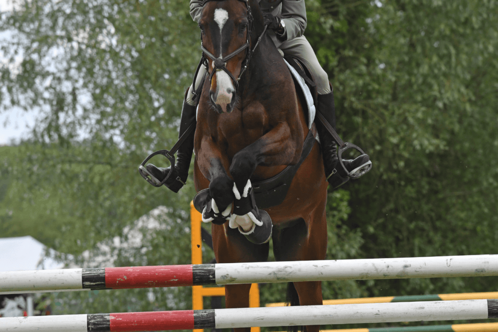
[[[304,140],[301,158],[297,164],[287,166],[283,171],[269,179],[258,182],[251,180],[252,188],[254,189],[254,199],[259,209],[266,209],[282,204],[287,196],[294,175],[296,175],[297,170],[306,157],[308,157],[315,144],[316,134],[315,123],[313,123]]]

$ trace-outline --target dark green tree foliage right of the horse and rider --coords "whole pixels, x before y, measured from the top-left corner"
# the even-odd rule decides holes
[[[308,39],[328,54],[339,131],[373,160],[344,187],[357,257],[497,253],[498,3],[340,2],[313,7]],[[497,287],[481,279],[359,284],[369,296]]]

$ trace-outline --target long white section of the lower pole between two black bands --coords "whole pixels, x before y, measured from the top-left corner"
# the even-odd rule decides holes
[[[215,309],[217,329],[487,318],[487,300]]]

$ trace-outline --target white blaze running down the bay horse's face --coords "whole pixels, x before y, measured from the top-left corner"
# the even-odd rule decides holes
[[[223,26],[228,20],[228,11],[222,8],[217,8],[215,10],[215,22],[218,23],[220,27],[220,55],[219,58],[223,57],[222,45],[223,45]],[[213,63],[214,66],[214,63]],[[220,105],[224,112],[227,111],[227,105],[232,102],[233,92],[235,91],[232,79],[224,70],[218,70],[216,72],[216,104]]]

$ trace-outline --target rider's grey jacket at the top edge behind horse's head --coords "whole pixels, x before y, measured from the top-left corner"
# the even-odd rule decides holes
[[[194,21],[201,19],[203,0],[190,0],[190,15]],[[269,30],[267,33],[275,43],[280,46],[283,41],[291,40],[303,35],[306,29],[306,6],[304,0],[258,0],[263,12],[272,13],[280,17],[285,23],[286,34],[284,39],[278,40],[275,33]]]

